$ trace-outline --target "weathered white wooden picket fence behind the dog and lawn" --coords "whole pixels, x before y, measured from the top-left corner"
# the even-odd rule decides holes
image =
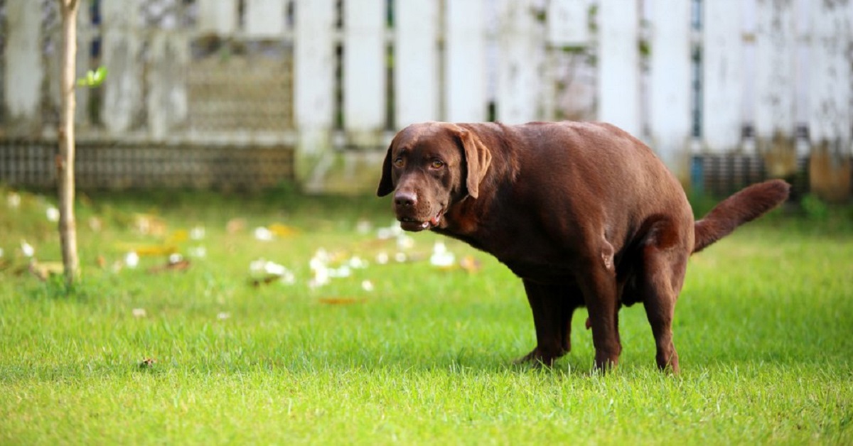
[[[55,39],[44,2],[55,3],[5,0],[7,135],[53,130],[45,102],[57,96],[44,85],[56,84],[58,67],[44,44]],[[81,11],[78,65],[81,75],[95,65],[110,73],[102,91],[78,90],[81,137],[295,144],[310,171],[334,147],[383,148],[417,121],[597,119],[649,142],[685,180],[697,154],[760,155],[776,176],[811,157],[823,159],[813,177],[850,191],[850,0],[99,5],[100,24]],[[86,49],[95,40],[93,61]],[[200,55],[211,40],[261,45],[260,56]],[[236,97],[206,100],[227,80],[202,88],[198,79],[218,70],[230,70]],[[97,122],[89,101],[99,101]],[[217,113],[231,118],[194,118]],[[274,119],[228,125],[251,113]],[[798,137],[798,128],[807,131]]]

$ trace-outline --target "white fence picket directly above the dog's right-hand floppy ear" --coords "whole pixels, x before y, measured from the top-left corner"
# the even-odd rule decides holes
[[[488,107],[483,0],[453,0],[444,7],[444,119],[483,121]]]

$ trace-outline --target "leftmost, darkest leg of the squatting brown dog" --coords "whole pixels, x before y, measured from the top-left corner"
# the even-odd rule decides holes
[[[533,311],[537,346],[517,362],[541,362],[551,366],[560,356],[572,350],[572,314],[577,308],[572,293],[576,287],[543,284],[525,279],[527,300]]]

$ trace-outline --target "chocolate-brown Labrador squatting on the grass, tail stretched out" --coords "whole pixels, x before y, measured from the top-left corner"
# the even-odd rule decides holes
[[[612,125],[409,125],[388,148],[378,194],[400,226],[490,252],[524,282],[550,365],[570,349],[572,312],[589,310],[595,367],[618,362],[618,310],[646,308],[661,369],[678,372],[672,317],[688,257],[786,200],[772,180],[705,218],[651,149]]]

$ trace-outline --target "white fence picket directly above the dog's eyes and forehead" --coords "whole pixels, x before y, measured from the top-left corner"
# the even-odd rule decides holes
[[[404,0],[394,13],[397,128],[438,119],[438,2]]]

